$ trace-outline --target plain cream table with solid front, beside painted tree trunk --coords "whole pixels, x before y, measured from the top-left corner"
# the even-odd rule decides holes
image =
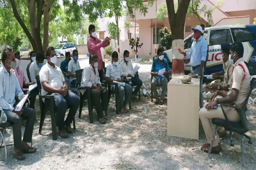
[[[197,78],[192,78],[193,84],[177,81],[179,77],[173,77],[168,83],[167,135],[198,140],[200,81]]]

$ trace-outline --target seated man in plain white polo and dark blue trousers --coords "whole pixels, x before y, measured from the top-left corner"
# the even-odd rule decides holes
[[[54,97],[59,135],[62,138],[68,138],[68,133],[73,133],[70,124],[79,107],[80,100],[77,95],[69,91],[69,86],[64,79],[61,69],[55,65],[57,63],[57,57],[54,47],[48,47],[45,55],[48,62],[39,72],[42,95],[52,95]],[[45,102],[47,103],[48,101]],[[68,108],[69,113],[64,121]]]

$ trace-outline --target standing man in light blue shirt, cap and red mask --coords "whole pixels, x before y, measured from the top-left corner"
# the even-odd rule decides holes
[[[203,107],[203,73],[204,64],[207,55],[207,41],[202,37],[203,29],[197,25],[192,29],[194,31],[194,41],[191,45],[190,52],[184,52],[178,48],[178,52],[184,55],[184,59],[191,58],[191,74],[198,74],[200,76],[200,95],[199,106]]]

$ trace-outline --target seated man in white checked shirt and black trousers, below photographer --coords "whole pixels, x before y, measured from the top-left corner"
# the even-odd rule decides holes
[[[95,106],[99,123],[105,124],[106,120],[103,111],[107,111],[108,107],[108,90],[101,86],[98,72],[98,56],[90,54],[89,63],[83,70],[81,87],[91,87],[91,105],[92,107]]]

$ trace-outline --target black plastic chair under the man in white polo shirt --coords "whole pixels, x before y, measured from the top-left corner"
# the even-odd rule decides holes
[[[42,132],[46,112],[49,111],[51,114],[51,122],[52,122],[52,139],[56,140],[57,139],[57,128],[56,128],[57,124],[56,124],[54,97],[51,95],[41,95],[42,87],[41,87],[41,83],[39,80],[39,76],[36,76],[36,83],[37,83],[37,88],[39,91],[39,104],[40,104],[40,112],[41,112],[39,134],[41,134],[41,132]],[[44,101],[43,101],[43,99],[44,99]],[[47,106],[46,106],[45,102],[47,102]],[[73,128],[74,128],[74,130],[76,129],[75,117],[73,118]]]

